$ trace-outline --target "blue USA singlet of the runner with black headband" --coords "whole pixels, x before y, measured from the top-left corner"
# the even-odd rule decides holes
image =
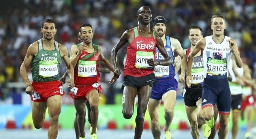
[[[172,48],[171,48],[170,37],[165,36],[165,38],[166,38],[165,49],[169,53],[172,61],[174,61],[174,56],[173,56],[173,51],[172,51]],[[160,53],[158,48],[156,48],[156,60],[163,60],[163,59],[165,59],[165,58]],[[157,81],[174,79],[174,76],[175,76],[175,70],[174,70],[173,65],[170,65],[170,66],[157,65],[155,67],[154,72],[155,72],[155,77],[156,77]]]

